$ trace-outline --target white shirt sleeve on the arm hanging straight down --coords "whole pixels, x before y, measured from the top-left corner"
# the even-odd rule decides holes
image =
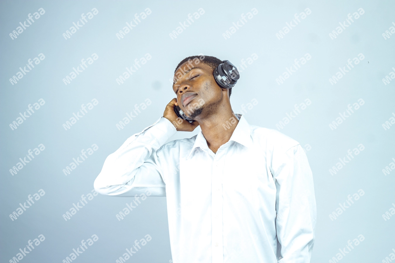
[[[276,180],[278,263],[309,263],[314,246],[316,200],[312,172],[300,144],[273,155]]]

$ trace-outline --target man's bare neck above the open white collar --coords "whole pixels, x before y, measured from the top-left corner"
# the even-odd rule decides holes
[[[207,141],[207,146],[214,153],[217,152],[222,144],[229,141],[239,123],[233,115],[234,113],[230,103],[221,103],[217,108],[220,110],[216,110],[214,114],[208,114],[209,116],[198,120],[201,131]]]

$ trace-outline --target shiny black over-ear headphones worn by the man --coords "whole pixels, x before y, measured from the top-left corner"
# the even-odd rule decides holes
[[[240,78],[239,71],[229,60],[222,60],[222,63],[214,69],[213,75],[218,86],[225,89],[233,88]],[[179,106],[175,106],[174,111],[180,118],[189,122],[194,121],[188,118]]]

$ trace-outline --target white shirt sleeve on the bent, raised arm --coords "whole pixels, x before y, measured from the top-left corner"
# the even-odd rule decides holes
[[[96,192],[109,196],[134,196],[149,189],[151,196],[166,196],[161,160],[156,151],[175,133],[173,124],[162,117],[142,132],[130,136],[105,159],[93,184]]]

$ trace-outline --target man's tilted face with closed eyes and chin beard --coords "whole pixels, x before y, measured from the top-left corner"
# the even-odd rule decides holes
[[[208,114],[215,104],[223,97],[223,90],[216,84],[213,69],[204,63],[195,65],[183,63],[175,72],[176,82],[173,91],[177,95],[177,104],[181,110],[191,119],[203,114]],[[188,68],[188,66],[189,68]],[[184,70],[185,69],[185,70]]]

